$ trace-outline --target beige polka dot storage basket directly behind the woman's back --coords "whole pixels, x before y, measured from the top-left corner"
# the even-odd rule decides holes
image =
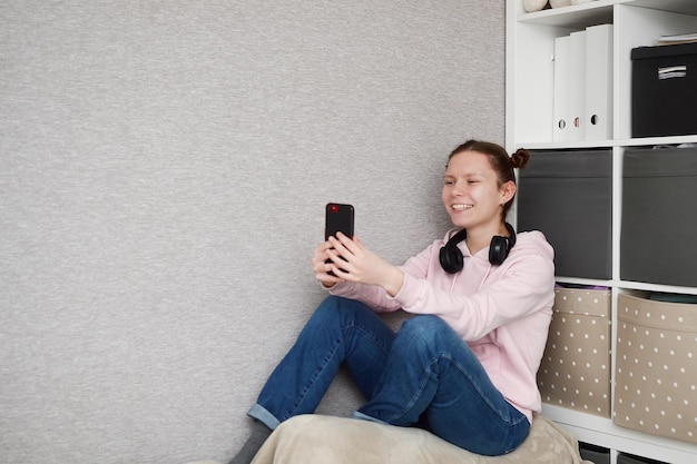
[[[610,290],[557,288],[538,386],[548,404],[610,417]]]

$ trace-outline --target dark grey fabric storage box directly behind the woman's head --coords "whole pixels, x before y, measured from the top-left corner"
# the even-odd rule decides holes
[[[612,151],[531,150],[520,170],[518,230],[540,230],[556,275],[608,279],[612,264]]]

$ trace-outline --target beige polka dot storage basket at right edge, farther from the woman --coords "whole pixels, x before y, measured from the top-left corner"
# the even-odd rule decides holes
[[[618,297],[617,425],[697,443],[697,304]]]

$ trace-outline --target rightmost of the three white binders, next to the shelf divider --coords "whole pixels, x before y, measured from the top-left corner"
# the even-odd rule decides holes
[[[586,29],[586,140],[612,139],[612,24]]]

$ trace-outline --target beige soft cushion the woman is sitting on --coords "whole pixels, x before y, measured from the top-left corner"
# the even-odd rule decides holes
[[[514,452],[481,456],[419,430],[324,415],[281,424],[253,464],[580,464],[578,442],[543,416]],[[592,463],[590,463],[592,464]]]

